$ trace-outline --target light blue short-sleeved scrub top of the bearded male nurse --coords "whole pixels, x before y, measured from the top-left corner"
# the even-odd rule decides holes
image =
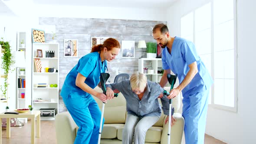
[[[188,65],[193,62],[197,62],[198,73],[182,90],[183,94],[190,91],[201,92],[204,89],[208,89],[212,85],[213,80],[200,57],[197,55],[196,48],[192,42],[175,37],[171,54],[168,52],[167,47],[162,51],[163,69],[171,69],[177,75],[180,84],[189,71]]]

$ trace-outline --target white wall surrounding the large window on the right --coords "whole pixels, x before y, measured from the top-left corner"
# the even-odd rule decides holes
[[[167,10],[171,36],[181,36],[181,16],[210,0],[181,0]],[[255,144],[255,0],[237,0],[237,112],[209,106],[206,133],[228,144]]]

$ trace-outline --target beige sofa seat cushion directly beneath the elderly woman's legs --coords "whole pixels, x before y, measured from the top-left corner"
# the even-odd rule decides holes
[[[122,131],[124,128],[118,128],[117,138],[118,140],[122,140]],[[154,127],[148,129],[146,133],[145,142],[158,143],[161,140],[162,127]]]

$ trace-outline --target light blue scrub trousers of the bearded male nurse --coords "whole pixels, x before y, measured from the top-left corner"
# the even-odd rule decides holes
[[[203,144],[208,108],[209,89],[201,92],[186,92],[183,95],[186,144]]]

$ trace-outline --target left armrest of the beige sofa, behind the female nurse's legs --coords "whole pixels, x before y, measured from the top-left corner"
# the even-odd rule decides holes
[[[55,116],[55,128],[57,144],[73,144],[77,125],[68,111],[59,113]]]

